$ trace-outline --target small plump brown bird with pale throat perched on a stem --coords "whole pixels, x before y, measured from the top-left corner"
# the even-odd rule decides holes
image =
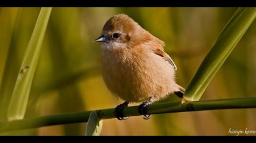
[[[144,30],[129,16],[115,15],[105,23],[101,36],[102,72],[108,89],[123,99],[115,109],[119,120],[127,119],[123,108],[143,102],[139,113],[149,119],[146,106],[175,93],[182,98],[184,88],[176,84],[176,65],[163,47],[165,42]]]

